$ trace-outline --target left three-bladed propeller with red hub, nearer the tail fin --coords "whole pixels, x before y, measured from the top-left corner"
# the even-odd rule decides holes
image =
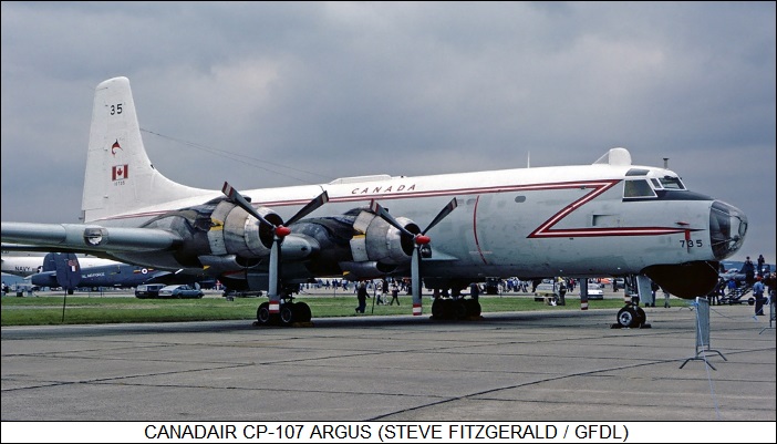
[[[280,265],[281,265],[281,258],[280,258],[280,246],[281,242],[283,242],[283,238],[289,236],[291,234],[291,228],[283,224],[272,224],[271,221],[267,220],[262,215],[257,211],[253,206],[246,200],[246,198],[238,193],[237,189],[235,189],[229,183],[225,182],[224,187],[221,188],[221,193],[224,193],[227,198],[231,202],[235,203],[235,205],[239,206],[240,208],[245,209],[250,214],[251,216],[256,217],[260,223],[267,225],[268,227],[272,228],[272,247],[270,248],[270,265],[269,265],[269,289],[268,293],[270,296],[270,312],[276,313],[280,310],[280,306],[278,301],[280,300],[280,293],[278,291],[278,287],[280,283]],[[311,202],[309,202],[304,207],[302,207],[297,214],[291,216],[289,220],[286,223],[287,225],[291,225],[301,218],[308,216],[309,214],[313,213],[317,208],[320,206],[324,205],[325,203],[329,202],[329,194],[324,190],[320,195],[318,195],[315,198],[313,198]],[[273,303],[274,302],[274,303]]]

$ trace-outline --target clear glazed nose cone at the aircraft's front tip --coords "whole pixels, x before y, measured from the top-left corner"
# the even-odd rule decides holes
[[[740,209],[715,200],[709,208],[709,244],[717,260],[734,255],[745,241],[747,216]]]

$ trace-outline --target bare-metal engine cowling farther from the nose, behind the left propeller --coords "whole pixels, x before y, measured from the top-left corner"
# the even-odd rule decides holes
[[[282,224],[278,214],[259,207],[257,211],[271,224]],[[241,258],[263,258],[270,255],[273,234],[269,227],[229,200],[222,200],[210,215],[208,244],[214,256],[235,255]]]

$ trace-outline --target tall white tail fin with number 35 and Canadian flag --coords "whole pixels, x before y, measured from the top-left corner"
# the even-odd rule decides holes
[[[94,93],[86,174],[81,203],[84,223],[211,193],[175,183],[154,168],[141,137],[126,78],[108,79]]]

